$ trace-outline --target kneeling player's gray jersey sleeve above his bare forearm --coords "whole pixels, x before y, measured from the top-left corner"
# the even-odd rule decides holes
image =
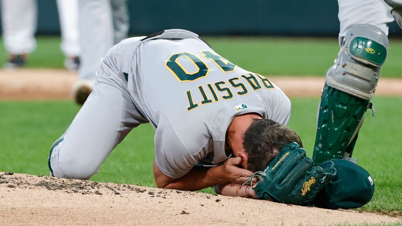
[[[198,162],[180,142],[172,125],[163,113],[159,114],[154,140],[155,162],[166,176],[183,177]]]

